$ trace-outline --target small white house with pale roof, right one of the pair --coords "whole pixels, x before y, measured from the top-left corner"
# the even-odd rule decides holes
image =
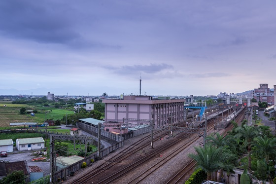
[[[45,148],[45,142],[42,137],[25,138],[16,140],[18,151],[27,151]]]

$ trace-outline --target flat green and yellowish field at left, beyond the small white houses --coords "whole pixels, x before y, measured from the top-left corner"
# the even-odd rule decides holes
[[[20,114],[20,109],[37,110],[35,116],[31,114]],[[41,104],[11,104],[11,102],[0,101],[0,127],[9,127],[9,123],[37,122],[43,123],[45,119],[62,119],[66,114],[73,111],[55,108],[45,108]]]

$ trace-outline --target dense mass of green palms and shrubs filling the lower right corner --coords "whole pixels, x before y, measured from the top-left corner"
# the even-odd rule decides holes
[[[189,155],[197,161],[197,168],[207,174],[204,180],[227,180],[229,183],[230,172],[239,167],[249,171],[250,179],[273,183],[276,177],[276,138],[272,136],[269,127],[247,126],[246,121],[243,121],[226,137],[216,134],[207,136],[206,140],[204,148],[195,147],[196,154]],[[221,175],[218,178],[211,177],[212,173],[218,171],[225,171],[226,179]],[[246,175],[243,176],[242,180],[245,181]]]

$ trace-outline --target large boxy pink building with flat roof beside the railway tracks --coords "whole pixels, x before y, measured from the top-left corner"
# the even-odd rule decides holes
[[[151,96],[124,96],[103,100],[105,122],[168,125],[184,120],[184,99],[152,99]]]

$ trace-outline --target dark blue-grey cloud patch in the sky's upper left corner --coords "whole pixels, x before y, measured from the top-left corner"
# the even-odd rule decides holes
[[[49,6],[45,1],[12,0],[0,2],[0,30],[8,37],[44,43],[67,43],[80,38],[65,19],[65,6]]]

